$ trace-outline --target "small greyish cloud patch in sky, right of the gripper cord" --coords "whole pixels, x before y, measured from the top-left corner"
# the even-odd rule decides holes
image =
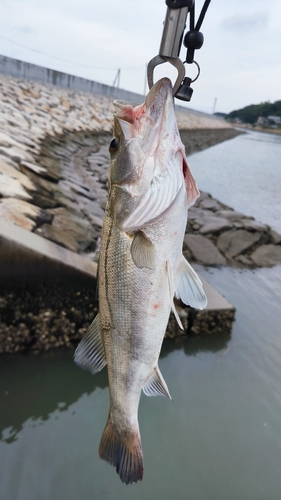
[[[248,15],[236,14],[226,17],[221,22],[221,26],[227,31],[247,33],[264,29],[268,24],[268,20],[268,12],[259,11]]]

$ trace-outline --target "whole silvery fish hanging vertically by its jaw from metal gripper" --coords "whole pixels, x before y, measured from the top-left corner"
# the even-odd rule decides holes
[[[114,102],[108,201],[98,263],[99,313],[75,351],[94,374],[107,365],[110,410],[99,456],[122,482],[143,478],[141,392],[171,398],[158,358],[174,297],[203,309],[206,295],[182,254],[188,208],[199,196],[181,142],[172,84],[143,104]]]

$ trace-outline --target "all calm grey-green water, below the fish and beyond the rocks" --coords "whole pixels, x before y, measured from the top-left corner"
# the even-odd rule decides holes
[[[236,191],[223,201],[244,212],[246,203],[247,213],[272,224],[271,205],[260,217],[255,212],[256,199],[264,196],[263,148],[276,176],[267,196],[280,210],[273,192],[278,179],[280,186],[281,142],[272,137],[253,133],[193,155],[199,187],[223,200],[226,162],[231,157],[232,165],[240,165],[245,148],[252,165],[252,151],[252,204],[236,196],[246,189],[245,165],[240,177],[235,174]],[[208,168],[200,179],[204,162]],[[141,397],[142,483],[123,485],[97,456],[109,406],[105,370],[91,377],[74,365],[70,351],[2,356],[1,499],[280,499],[281,266],[200,272],[237,308],[236,320],[231,336],[164,345],[159,366],[173,401]]]

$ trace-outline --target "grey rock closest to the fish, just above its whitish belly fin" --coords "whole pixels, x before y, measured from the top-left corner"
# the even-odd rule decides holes
[[[186,234],[184,243],[198,262],[215,266],[226,264],[226,259],[208,238],[199,234]]]

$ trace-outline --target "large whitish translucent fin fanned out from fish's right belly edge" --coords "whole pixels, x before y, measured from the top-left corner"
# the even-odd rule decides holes
[[[207,297],[203,290],[202,282],[183,255],[176,270],[175,295],[184,304],[196,309],[204,309],[207,305]]]

